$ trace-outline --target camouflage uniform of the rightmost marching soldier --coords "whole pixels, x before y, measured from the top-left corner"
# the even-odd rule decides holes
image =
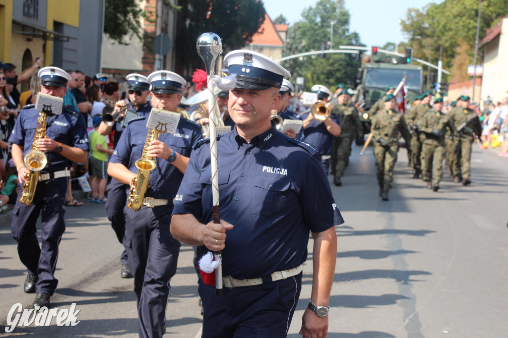
[[[473,142],[473,131],[478,136],[482,134],[482,125],[480,124],[480,118],[478,114],[476,114],[476,118],[469,122],[460,132],[457,131],[457,128],[464,123],[469,117],[473,116],[472,114],[476,114],[473,110],[469,108],[459,108],[455,107],[449,113],[449,121],[452,129],[454,131],[453,141],[454,141],[454,152],[453,155],[453,175],[459,177],[461,172],[464,179],[464,184],[467,184],[469,177],[471,176],[471,144]],[[459,166],[460,163],[460,166]]]

